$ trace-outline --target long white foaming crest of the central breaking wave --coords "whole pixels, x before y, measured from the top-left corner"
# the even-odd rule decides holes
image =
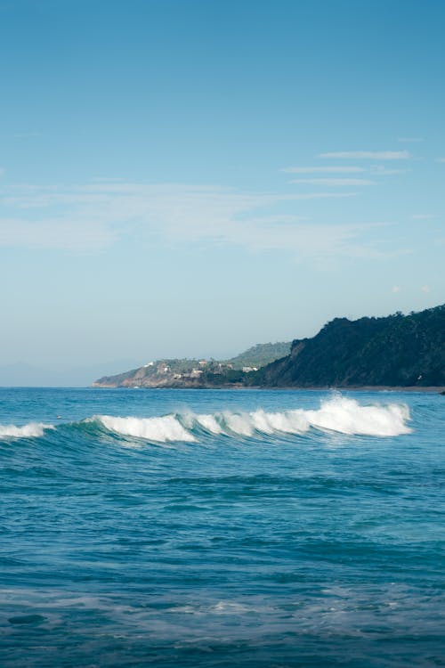
[[[214,414],[175,414],[155,418],[97,419],[110,431],[137,436],[158,443],[196,442],[203,431],[214,436],[254,436],[264,434],[303,434],[310,428],[348,435],[399,436],[409,434],[408,406],[401,403],[361,406],[354,399],[336,396],[321,403],[318,410],[251,412],[223,411]]]

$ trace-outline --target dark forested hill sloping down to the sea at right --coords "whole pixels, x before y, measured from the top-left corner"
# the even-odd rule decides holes
[[[249,374],[260,387],[443,387],[445,305],[420,313],[336,318],[290,354]]]

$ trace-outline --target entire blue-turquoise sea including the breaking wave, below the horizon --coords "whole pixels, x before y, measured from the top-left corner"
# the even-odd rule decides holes
[[[444,406],[1,389],[0,665],[445,665]]]

